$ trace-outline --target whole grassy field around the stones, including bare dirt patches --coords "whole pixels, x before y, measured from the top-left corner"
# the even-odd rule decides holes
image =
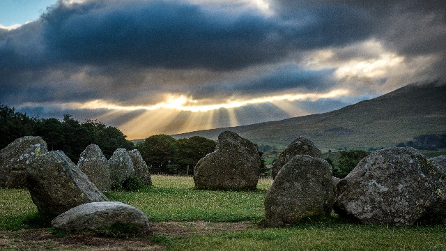
[[[194,190],[190,177],[152,178],[153,188],[107,194],[148,215],[155,231],[148,239],[55,237],[39,225],[29,192],[0,190],[0,250],[446,250],[445,225],[364,226],[333,215],[293,227],[260,227],[270,179],[255,192],[221,192]]]

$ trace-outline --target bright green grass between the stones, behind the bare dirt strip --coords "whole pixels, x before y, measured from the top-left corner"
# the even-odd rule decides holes
[[[261,179],[254,192],[209,191],[195,190],[191,177],[153,176],[153,188],[108,196],[140,208],[153,222],[238,222],[263,218],[263,199],[271,183]]]

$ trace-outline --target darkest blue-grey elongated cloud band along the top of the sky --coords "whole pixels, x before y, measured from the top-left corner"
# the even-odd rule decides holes
[[[95,1],[53,8],[43,17],[43,36],[53,53],[76,63],[228,70],[362,39],[366,14],[335,7],[286,18],[250,12],[233,17],[187,3]]]

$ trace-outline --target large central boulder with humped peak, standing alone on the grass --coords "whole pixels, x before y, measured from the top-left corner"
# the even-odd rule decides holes
[[[255,190],[261,160],[256,146],[235,132],[222,132],[213,153],[194,169],[195,187],[217,190]]]

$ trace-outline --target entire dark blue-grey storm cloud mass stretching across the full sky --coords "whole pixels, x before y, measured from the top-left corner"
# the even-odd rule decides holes
[[[195,98],[335,88],[332,69],[277,67],[299,55],[336,49],[339,61],[363,57],[343,48],[374,38],[406,56],[446,56],[446,7],[438,1],[270,1],[272,15],[187,1],[60,1],[39,20],[0,29],[0,101],[120,104],[160,101],[163,91]],[[299,63],[299,62],[297,62]],[[249,75],[256,67],[275,68]],[[171,70],[149,79],[155,70]],[[176,70],[206,71],[180,79]],[[444,76],[445,60],[424,74]],[[183,73],[182,73],[183,74]],[[171,79],[169,79],[171,77]],[[186,77],[187,78],[187,77]],[[406,83],[407,84],[407,83]],[[20,98],[17,98],[20,97]]]

